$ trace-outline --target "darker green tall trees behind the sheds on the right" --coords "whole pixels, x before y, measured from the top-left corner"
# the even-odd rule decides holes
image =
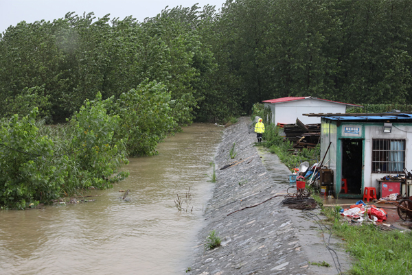
[[[231,65],[253,101],[411,101],[410,0],[228,1]],[[225,23],[227,22],[227,23]]]

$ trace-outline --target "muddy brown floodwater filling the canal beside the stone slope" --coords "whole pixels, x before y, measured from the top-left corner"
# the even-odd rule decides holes
[[[184,274],[221,132],[184,128],[159,143],[158,156],[130,158],[129,178],[93,191],[95,202],[0,211],[0,274]],[[189,187],[193,212],[179,212],[176,193]]]

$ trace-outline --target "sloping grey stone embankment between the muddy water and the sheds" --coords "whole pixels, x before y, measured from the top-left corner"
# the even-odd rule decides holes
[[[243,117],[225,129],[218,146],[216,187],[205,210],[205,227],[198,235],[190,274],[337,274],[320,230],[309,217],[282,206],[283,197],[264,202],[286,192],[290,171],[273,154],[265,168],[265,156],[260,158],[264,153],[253,146],[255,134],[248,133],[249,123]],[[233,143],[237,154],[231,159]],[[219,170],[233,162],[238,164]],[[238,211],[255,204],[260,205]],[[211,230],[218,232],[222,245],[205,250],[203,243]],[[341,264],[347,265],[343,252],[338,253]],[[327,261],[332,267],[317,267],[308,261]]]

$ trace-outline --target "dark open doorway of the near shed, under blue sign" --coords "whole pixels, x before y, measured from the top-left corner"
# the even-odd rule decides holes
[[[362,139],[342,140],[342,178],[347,182],[347,193],[362,193]]]

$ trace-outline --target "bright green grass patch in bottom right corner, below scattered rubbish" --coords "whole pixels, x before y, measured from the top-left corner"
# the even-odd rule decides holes
[[[324,208],[322,213],[357,260],[348,274],[412,274],[412,232],[385,232],[369,223],[351,226],[341,218],[338,207]]]

